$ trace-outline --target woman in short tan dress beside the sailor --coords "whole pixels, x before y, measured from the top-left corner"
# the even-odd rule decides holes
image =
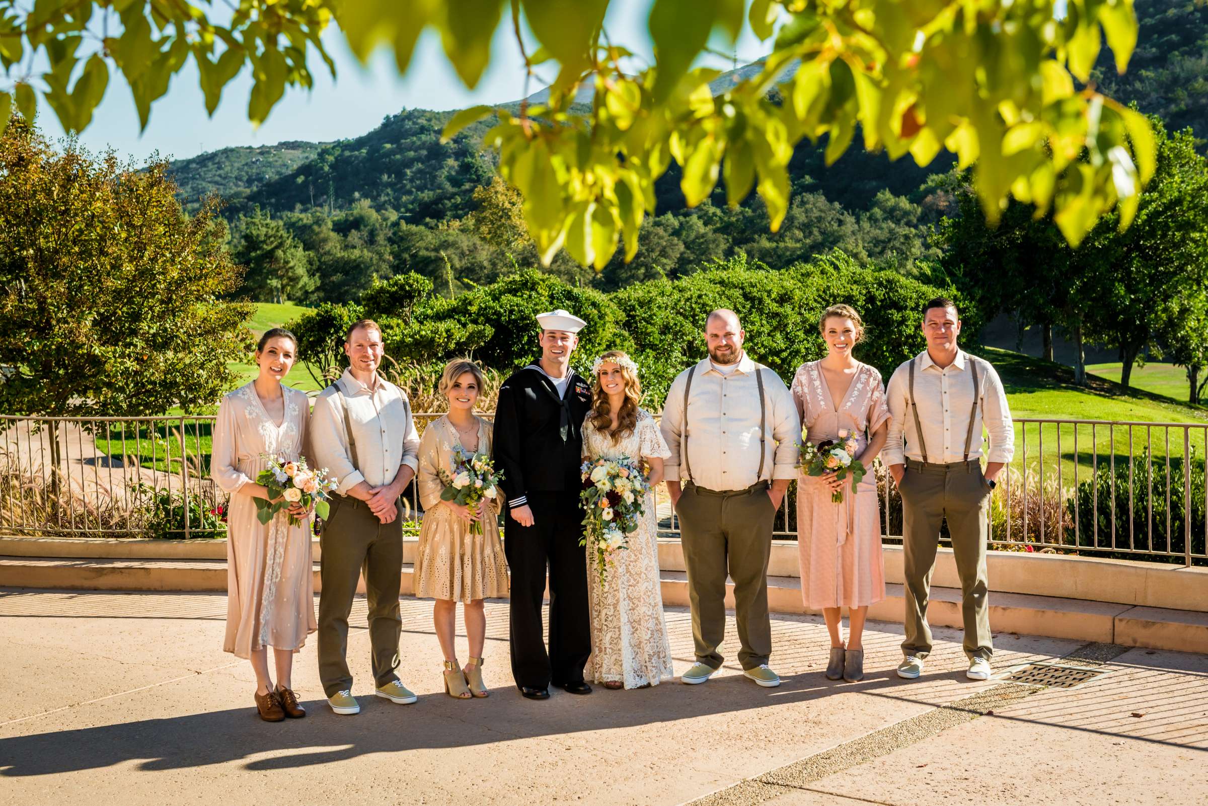
[[[483,501],[478,510],[452,501],[441,501],[446,478],[452,477],[453,452],[490,455],[490,424],[475,416],[474,407],[482,390],[482,370],[472,361],[451,361],[441,375],[441,393],[448,397],[449,413],[424,430],[419,440],[419,471],[416,484],[424,508],[416,554],[416,596],[432,597],[432,621],[445,653],[445,691],[458,700],[488,696],[482,683],[482,648],[487,615],[482,600],[507,592],[507,560],[499,541],[495,515],[500,498]],[[470,524],[482,522],[482,535],[471,535]],[[457,603],[464,607],[470,659],[458,666],[455,646]]]

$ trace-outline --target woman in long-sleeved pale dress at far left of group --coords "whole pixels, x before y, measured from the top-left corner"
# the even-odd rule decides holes
[[[222,398],[214,426],[210,475],[231,493],[227,515],[227,626],[223,652],[246,658],[256,673],[256,709],[267,722],[304,717],[292,689],[294,653],[315,631],[310,560],[310,510],[256,519],[254,498],[268,490],[255,479],[267,456],[302,455],[310,404],[306,392],[281,384],[297,356],[297,339],[283,328],[265,333],[256,347],[260,374]],[[277,685],[268,671],[273,648]]]

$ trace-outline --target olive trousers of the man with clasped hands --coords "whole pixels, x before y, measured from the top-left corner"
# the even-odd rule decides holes
[[[383,524],[364,501],[332,496],[331,516],[319,536],[319,679],[330,697],[353,688],[348,668],[348,614],[356,582],[365,572],[373,681],[377,687],[399,679],[399,586],[402,579],[402,519]]]

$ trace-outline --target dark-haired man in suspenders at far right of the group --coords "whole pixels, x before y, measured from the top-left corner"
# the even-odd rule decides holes
[[[927,624],[940,527],[948,521],[960,577],[970,679],[991,676],[986,537],[989,496],[1015,452],[1015,428],[998,373],[957,346],[960,317],[951,299],[923,309],[927,351],[889,379],[889,436],[882,454],[902,496],[906,639],[898,676],[914,679],[931,652]],[[982,471],[982,427],[989,434]],[[905,444],[904,444],[905,443]]]

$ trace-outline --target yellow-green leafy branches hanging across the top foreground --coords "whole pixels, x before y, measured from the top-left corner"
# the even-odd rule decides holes
[[[82,130],[116,69],[145,127],[152,101],[192,59],[210,113],[250,65],[248,116],[259,123],[288,86],[312,84],[312,47],[335,71],[320,40],[332,19],[359,58],[385,45],[403,72],[420,34],[435,29],[474,87],[495,29],[509,25],[527,69],[556,63],[558,77],[547,105],[499,110],[486,141],[524,194],[542,262],[565,247],[597,269],[618,236],[633,257],[655,181],[672,160],[690,206],[720,176],[731,203],[753,188],[762,197],[774,232],[789,211],[794,146],[825,136],[830,163],[859,129],[865,147],[892,158],[910,153],[925,165],[948,148],[962,167],[976,163],[991,221],[1014,197],[1052,208],[1071,243],[1116,203],[1127,224],[1154,169],[1144,118],[1074,86],[1090,80],[1104,37],[1116,64],[1127,65],[1137,39],[1132,0],[1069,0],[1061,21],[1055,0],[654,0],[650,65],[608,37],[608,5],[513,0],[507,14],[503,0],[478,0],[472,11],[436,0],[240,0],[217,22],[225,10],[185,0],[66,0],[31,10],[6,2],[0,64],[14,83],[0,92],[0,122],[12,103],[30,118],[41,94],[65,128]],[[714,95],[718,72],[692,64],[714,31],[733,40],[744,24],[771,54],[762,70]],[[43,56],[50,70],[29,75],[27,52]],[[587,113],[574,106],[581,84],[594,89]],[[783,103],[768,98],[772,89]],[[492,112],[466,110],[446,134]]]

